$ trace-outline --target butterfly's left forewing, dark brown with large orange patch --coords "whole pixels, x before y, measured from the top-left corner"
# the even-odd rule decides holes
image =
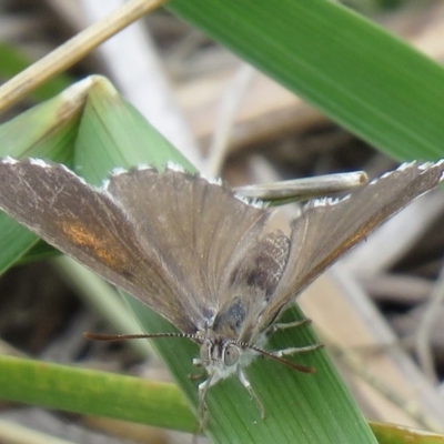
[[[155,306],[179,329],[193,330],[182,314],[180,284],[163,272],[154,251],[141,248],[124,210],[63,165],[3,160],[0,208],[48,243]]]

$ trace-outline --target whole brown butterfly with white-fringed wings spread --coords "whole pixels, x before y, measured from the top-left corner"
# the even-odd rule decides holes
[[[272,211],[218,181],[169,165],[117,170],[100,188],[64,165],[0,160],[0,209],[48,243],[169,320],[200,345],[208,389],[264,355],[302,372],[286,355],[320,344],[263,349],[283,309],[382,222],[443,180],[444,161],[412,162],[344,199],[309,201],[291,234],[269,230]],[[303,321],[293,323],[295,326]],[[92,335],[94,336],[94,335]],[[100,337],[99,337],[100,339]]]

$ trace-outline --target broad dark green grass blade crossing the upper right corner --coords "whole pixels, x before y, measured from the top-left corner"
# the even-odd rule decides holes
[[[442,67],[339,2],[171,0],[169,9],[390,155],[443,155]]]

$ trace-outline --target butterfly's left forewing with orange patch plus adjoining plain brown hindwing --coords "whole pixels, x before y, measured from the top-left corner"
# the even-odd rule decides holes
[[[226,190],[204,180],[193,189],[192,178],[184,173],[145,171],[150,172],[119,174],[111,178],[108,190],[100,190],[63,165],[6,158],[0,162],[0,208],[183,332],[194,333],[205,295],[193,293],[199,285],[191,276],[199,275],[202,283],[205,274],[222,274],[236,243],[249,238],[250,229],[255,231],[252,226],[260,231],[266,214],[238,200],[231,202]],[[150,180],[142,180],[143,174]],[[162,191],[167,178],[170,186]],[[230,211],[233,214],[226,218]],[[208,222],[213,225],[206,226]],[[220,254],[218,243],[222,243]]]

